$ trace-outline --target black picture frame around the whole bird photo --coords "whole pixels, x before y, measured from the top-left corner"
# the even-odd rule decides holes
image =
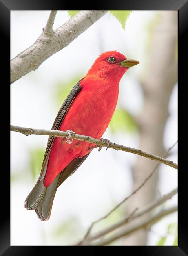
[[[183,61],[185,59],[185,53],[187,52],[187,39],[186,35],[187,29],[188,29],[188,2],[187,0],[124,0],[124,1],[95,1],[93,4],[89,2],[90,5],[84,5],[82,6],[79,2],[74,3],[73,6],[71,6],[70,2],[62,2],[62,1],[42,1],[42,0],[33,0],[33,1],[24,1],[24,0],[0,0],[0,35],[2,36],[1,43],[2,43],[2,53],[1,53],[1,61],[3,63],[2,65],[2,76],[1,78],[4,79],[4,83],[2,83],[2,90],[7,89],[7,95],[9,95],[9,59],[7,58],[7,52],[10,42],[10,11],[11,10],[50,10],[50,9],[131,9],[131,10],[177,10],[178,11],[178,50],[179,50],[179,61],[178,61],[178,81],[180,84],[180,87],[186,86],[188,83],[186,80],[186,66],[183,64]],[[7,50],[5,50],[7,49]],[[162,58],[162,56],[161,56]],[[3,78],[4,76],[4,78]],[[1,81],[2,81],[1,79]],[[181,90],[180,90],[181,91]],[[180,93],[179,91],[179,93]],[[4,93],[2,93],[2,96]],[[6,113],[4,110],[9,109],[7,108],[7,105],[5,106],[5,103],[3,104],[3,107],[1,111],[1,117],[2,120],[7,120],[7,122],[4,122],[5,127],[9,123],[9,113]],[[185,110],[186,111],[186,110]],[[2,137],[4,137],[5,142],[3,142],[3,159],[4,163],[8,163],[10,161],[8,152],[8,143],[7,138],[9,138],[9,128],[5,128],[5,131],[7,134],[4,133]],[[185,154],[185,153],[184,153]],[[4,159],[4,157],[7,156],[7,160]],[[181,158],[183,158],[183,154],[181,154]],[[184,158],[186,159],[186,158]],[[7,162],[5,162],[7,161]],[[8,164],[4,165],[5,167],[2,168],[2,179],[1,179],[1,187],[3,187],[3,191],[1,194],[1,223],[0,223],[0,254],[7,256],[7,255],[43,255],[45,253],[45,250],[47,250],[48,254],[55,254],[55,251],[57,250],[60,253],[64,253],[64,248],[62,249],[62,246],[10,246],[10,202],[9,202],[9,195],[10,195],[10,173],[7,168]],[[181,164],[180,164],[181,166]],[[131,252],[131,254],[138,253],[139,255],[169,255],[169,256],[177,256],[177,255],[188,255],[188,232],[187,232],[187,213],[185,210],[185,201],[184,204],[181,206],[181,198],[183,200],[186,200],[186,192],[184,191],[184,188],[186,188],[186,179],[184,178],[184,174],[186,173],[186,169],[181,169],[181,174],[179,175],[179,212],[178,212],[178,221],[179,221],[179,235],[178,235],[178,247],[173,246],[163,246],[163,247],[157,247],[157,246],[145,246],[145,247],[124,247],[123,250],[125,250],[125,253]],[[185,184],[183,184],[185,182]],[[28,230],[29,232],[29,230]],[[25,234],[23,234],[24,236]],[[54,249],[55,248],[55,249]],[[99,247],[84,247],[84,250],[89,250],[89,253],[95,253],[98,251]],[[103,247],[102,247],[103,248]],[[104,247],[105,250],[109,249],[109,247]],[[81,252],[81,249],[83,247],[68,247],[69,253],[73,252]],[[110,250],[113,250],[114,248],[110,247]],[[54,251],[55,250],[55,251]],[[102,249],[103,250],[103,249]],[[115,247],[115,250],[117,250],[117,247]],[[111,251],[112,252],[112,251]],[[112,252],[113,253],[113,252]]]

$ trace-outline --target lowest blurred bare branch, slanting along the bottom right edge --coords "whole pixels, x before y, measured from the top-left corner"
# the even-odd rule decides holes
[[[92,243],[92,245],[108,245],[108,244],[112,243],[113,241],[115,241],[123,236],[126,236],[127,234],[131,234],[132,232],[134,232],[140,228],[147,228],[148,226],[154,225],[155,223],[160,221],[166,215],[169,215],[169,214],[177,211],[177,209],[178,209],[177,206],[174,206],[172,208],[162,210],[159,213],[157,213],[156,215],[150,217],[150,219],[144,220],[141,223],[134,224],[134,225],[130,226],[129,228],[125,227],[123,230],[121,230],[120,232],[117,232],[113,236],[108,237],[107,239],[104,239],[102,241]],[[89,244],[91,244],[91,243],[89,243]],[[86,245],[86,244],[84,244],[84,245]]]

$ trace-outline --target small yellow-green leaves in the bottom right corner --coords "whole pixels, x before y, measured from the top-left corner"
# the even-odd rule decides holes
[[[167,226],[166,236],[162,236],[159,241],[157,242],[157,245],[162,246],[165,244],[166,239],[168,236],[174,236],[173,245],[178,246],[178,240],[177,240],[177,223],[170,223]]]

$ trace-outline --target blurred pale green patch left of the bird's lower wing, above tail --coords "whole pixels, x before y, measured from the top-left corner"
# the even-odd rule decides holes
[[[36,178],[38,178],[41,167],[42,167],[42,161],[44,158],[45,150],[44,148],[35,147],[29,152],[29,167],[30,167],[30,173],[32,176],[32,179],[36,181]]]

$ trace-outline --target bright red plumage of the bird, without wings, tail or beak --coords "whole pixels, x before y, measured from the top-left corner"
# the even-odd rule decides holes
[[[108,57],[114,56],[111,64]],[[118,85],[128,69],[118,62],[126,57],[117,51],[104,52],[96,59],[86,76],[80,81],[81,91],[73,100],[59,130],[72,130],[77,134],[100,139],[108,127],[116,108]],[[44,186],[48,187],[56,176],[75,158],[88,154],[91,143],[66,138],[55,138],[51,147]]]

